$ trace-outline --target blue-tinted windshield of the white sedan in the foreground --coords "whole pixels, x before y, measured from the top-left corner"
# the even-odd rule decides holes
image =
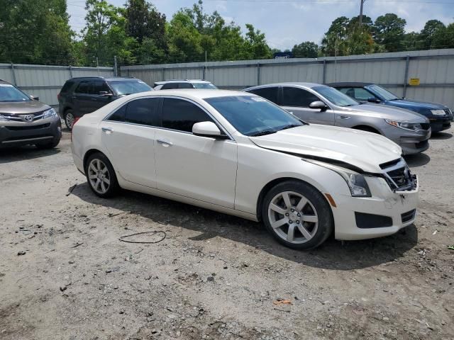
[[[305,124],[259,96],[216,97],[205,98],[204,101],[246,136],[267,135]]]

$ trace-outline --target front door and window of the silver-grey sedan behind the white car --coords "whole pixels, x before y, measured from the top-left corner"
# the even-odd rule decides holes
[[[330,108],[325,111],[309,108],[313,101],[322,100],[319,96],[299,87],[282,87],[282,108],[308,123],[334,125],[334,112]]]

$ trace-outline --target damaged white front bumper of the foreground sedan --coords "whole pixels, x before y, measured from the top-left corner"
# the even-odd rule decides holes
[[[419,186],[394,193],[384,179],[367,178],[372,197],[336,195],[333,208],[336,239],[354,240],[394,234],[416,219]]]

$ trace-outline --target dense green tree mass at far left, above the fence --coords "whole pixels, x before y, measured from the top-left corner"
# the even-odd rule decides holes
[[[73,62],[66,0],[0,0],[0,60]],[[52,42],[52,43],[49,43]]]

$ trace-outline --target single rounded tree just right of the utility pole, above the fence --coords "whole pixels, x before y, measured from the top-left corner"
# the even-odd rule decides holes
[[[374,40],[384,46],[387,52],[397,52],[404,49],[404,34],[406,21],[394,13],[379,16],[374,23]]]

